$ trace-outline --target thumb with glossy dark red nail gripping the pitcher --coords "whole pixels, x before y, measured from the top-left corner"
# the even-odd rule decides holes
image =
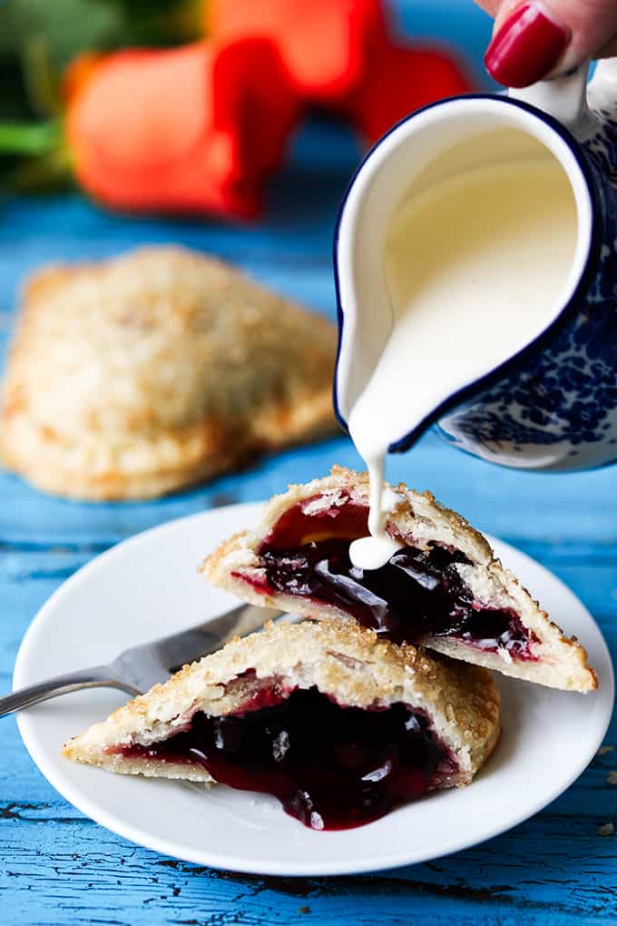
[[[509,87],[526,87],[575,68],[587,58],[617,54],[615,0],[503,0],[485,62]]]

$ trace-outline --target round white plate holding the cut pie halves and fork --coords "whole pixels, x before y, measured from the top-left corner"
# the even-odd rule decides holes
[[[19,649],[14,686],[107,662],[134,644],[177,632],[234,604],[197,574],[204,554],[250,525],[259,505],[219,508],[117,545],[72,576],[43,606]],[[495,836],[546,807],[580,775],[602,742],[613,702],[611,658],[586,608],[547,569],[511,546],[497,554],[586,645],[594,694],[565,694],[499,678],[500,744],[475,782],[401,807],[369,826],[307,830],[269,796],[218,786],[114,775],[76,765],[60,745],[124,696],[69,694],[19,714],[43,775],[109,830],[168,856],[215,868],[279,875],[386,869],[446,855]]]

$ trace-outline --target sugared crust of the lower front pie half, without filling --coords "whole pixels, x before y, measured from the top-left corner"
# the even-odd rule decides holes
[[[248,670],[253,671],[245,675]],[[470,782],[499,738],[500,694],[486,670],[378,641],[374,632],[352,623],[323,620],[267,623],[264,631],[231,641],[69,740],[63,753],[126,774],[212,781],[198,766],[107,750],[165,739],[186,727],[196,711],[213,717],[233,713],[273,682],[283,690],[316,685],[341,706],[402,702],[424,711],[459,766],[441,787]]]

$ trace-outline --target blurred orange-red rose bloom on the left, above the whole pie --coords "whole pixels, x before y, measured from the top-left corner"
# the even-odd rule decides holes
[[[250,218],[298,111],[271,43],[130,50],[69,95],[68,143],[81,185],[108,206]]]

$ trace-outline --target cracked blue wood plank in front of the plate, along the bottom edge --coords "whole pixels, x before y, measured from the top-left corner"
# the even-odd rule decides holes
[[[515,911],[538,923],[609,922],[617,915],[614,837],[598,836],[596,820],[546,813],[430,864],[376,876],[283,879],[216,872],[160,857],[75,818],[59,827],[54,810],[53,804],[10,807],[8,819],[0,818],[9,859],[0,890],[10,890],[17,920],[33,926],[53,922],[56,911],[71,910],[78,922],[88,921],[97,909],[114,904],[118,894],[121,916],[135,926],[152,922],[153,916],[179,923],[270,924],[274,911],[287,923],[300,914],[299,906],[311,908],[318,918],[313,921],[363,924],[403,922],[412,911],[414,920],[439,923],[485,922]],[[538,845],[541,858],[530,866]],[[242,919],[208,919],[221,908]]]

